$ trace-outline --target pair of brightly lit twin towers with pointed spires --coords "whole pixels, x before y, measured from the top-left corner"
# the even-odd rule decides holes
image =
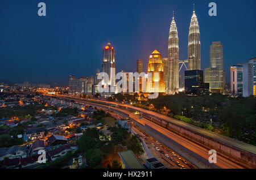
[[[168,41],[168,59],[166,64],[166,93],[174,94],[179,89],[179,37],[174,16],[172,17],[169,41]],[[184,61],[183,61],[184,62]],[[188,35],[188,70],[201,69],[201,43],[199,23],[195,14],[195,8],[191,18]]]

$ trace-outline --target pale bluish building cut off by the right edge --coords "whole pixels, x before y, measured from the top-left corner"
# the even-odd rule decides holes
[[[243,63],[243,96],[256,96],[256,57]]]

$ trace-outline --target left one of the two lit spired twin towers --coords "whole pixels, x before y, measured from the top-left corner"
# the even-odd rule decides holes
[[[169,41],[168,41],[168,63],[166,72],[166,93],[173,94],[179,89],[179,37],[177,26],[172,17]]]

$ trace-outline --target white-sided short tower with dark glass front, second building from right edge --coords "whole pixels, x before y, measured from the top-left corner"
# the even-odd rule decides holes
[[[230,67],[230,92],[233,95],[243,95],[243,66]]]

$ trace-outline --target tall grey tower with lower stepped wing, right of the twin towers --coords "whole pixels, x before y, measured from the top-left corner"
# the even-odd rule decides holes
[[[210,91],[222,93],[225,85],[223,70],[223,45],[220,41],[210,45],[210,67],[204,71],[205,83],[210,84]]]

